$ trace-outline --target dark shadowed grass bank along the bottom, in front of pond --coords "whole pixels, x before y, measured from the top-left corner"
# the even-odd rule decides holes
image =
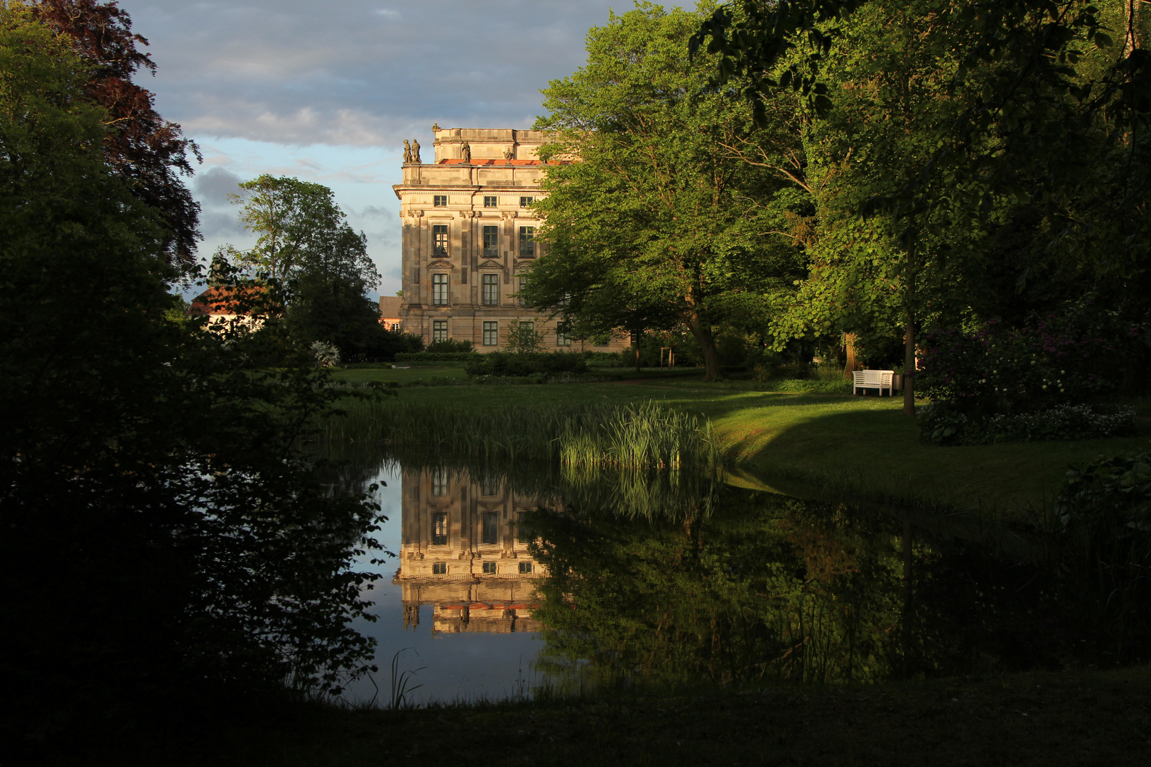
[[[160,750],[135,764],[1142,767],[1151,668],[399,712],[307,706]]]

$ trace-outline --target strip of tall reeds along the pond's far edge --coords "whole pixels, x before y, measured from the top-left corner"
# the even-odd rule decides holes
[[[723,462],[706,419],[639,405],[462,406],[351,400],[345,415],[325,419],[319,437],[387,440],[483,461],[546,460],[570,469],[679,469]]]

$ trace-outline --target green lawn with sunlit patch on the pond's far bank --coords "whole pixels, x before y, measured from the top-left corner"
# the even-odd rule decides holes
[[[403,371],[398,371],[403,373]],[[829,492],[890,503],[982,508],[1004,517],[1041,509],[1069,463],[1146,450],[1123,439],[935,447],[920,442],[898,398],[740,391],[730,384],[635,381],[612,384],[405,389],[402,401],[472,407],[653,399],[711,420],[733,459],[782,491]]]

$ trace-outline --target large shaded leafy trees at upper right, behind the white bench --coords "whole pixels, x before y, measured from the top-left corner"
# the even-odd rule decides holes
[[[914,373],[924,322],[973,320],[978,290],[965,277],[986,271],[992,247],[1003,253],[1005,227],[1029,222],[1011,254],[1021,287],[1052,264],[1078,261],[1110,283],[1145,260],[1145,23],[1115,1],[741,0],[716,9],[692,46],[721,55],[716,82],[738,80],[761,120],[780,92],[806,101],[809,156],[837,176],[818,227],[838,251],[813,263],[826,287],[809,283],[805,298],[886,283],[870,299],[900,305]],[[1108,24],[1126,30],[1122,51]],[[909,414],[913,398],[909,385]]]

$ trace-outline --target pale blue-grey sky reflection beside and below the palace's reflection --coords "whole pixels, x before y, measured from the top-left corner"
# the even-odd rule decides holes
[[[390,552],[399,553],[402,532],[403,481],[398,465],[386,465],[376,482],[386,482],[378,500],[388,521],[376,532],[376,539]],[[485,634],[463,632],[434,635],[432,631],[432,607],[420,608],[420,622],[416,628],[404,627],[404,606],[401,586],[391,580],[399,567],[399,559],[388,559],[379,566],[383,576],[375,582],[368,598],[375,603],[372,612],[378,616],[374,623],[356,621],[356,630],[376,641],[374,674],[380,688],[378,703],[387,705],[389,697],[391,659],[397,651],[413,647],[401,655],[399,669],[425,667],[410,687],[422,684],[409,696],[413,703],[451,701],[459,698],[506,698],[521,687],[527,691],[534,680],[532,662],[543,646],[538,634]],[[371,566],[365,567],[371,569]],[[416,653],[419,653],[417,657]],[[352,683],[345,697],[351,700],[368,700],[375,695],[372,682],[361,678]]]

